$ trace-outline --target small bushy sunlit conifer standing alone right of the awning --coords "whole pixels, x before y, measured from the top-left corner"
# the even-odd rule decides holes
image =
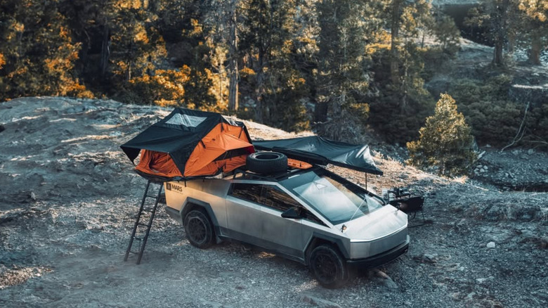
[[[476,154],[471,150],[474,137],[457,112],[455,100],[441,94],[434,115],[426,118],[419,140],[407,143],[410,163],[418,167],[438,167],[441,174],[453,176],[466,172]]]

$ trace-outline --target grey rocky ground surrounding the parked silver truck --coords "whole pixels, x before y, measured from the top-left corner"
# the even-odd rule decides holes
[[[141,264],[124,262],[145,180],[119,145],[167,113],[67,98],[0,104],[0,307],[547,307],[548,193],[491,180],[544,181],[548,156],[528,150],[488,150],[473,179],[374,152],[385,174],[368,187],[426,195],[426,223],[411,221],[407,255],[338,290],[244,245],[194,248],[163,209]],[[292,136],[247,126],[255,138]]]

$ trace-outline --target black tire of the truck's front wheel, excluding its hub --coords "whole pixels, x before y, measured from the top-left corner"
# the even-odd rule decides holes
[[[320,276],[317,264],[318,257],[320,257],[320,255],[328,256],[331,258],[336,273],[334,277],[330,279],[324,279],[322,278],[322,276]],[[343,257],[341,257],[341,254],[339,253],[337,248],[334,248],[332,245],[319,245],[318,247],[314,248],[308,259],[308,264],[316,280],[318,280],[320,285],[325,288],[339,288],[344,285],[344,283],[346,283],[346,281],[348,280],[346,263]]]

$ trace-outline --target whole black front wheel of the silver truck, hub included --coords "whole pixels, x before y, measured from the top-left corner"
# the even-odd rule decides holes
[[[319,245],[314,248],[308,264],[316,280],[325,288],[339,288],[348,280],[344,259],[332,245]]]

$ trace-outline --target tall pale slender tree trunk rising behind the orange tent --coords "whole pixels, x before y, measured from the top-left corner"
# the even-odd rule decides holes
[[[237,41],[237,19],[236,19],[236,1],[230,2],[230,41],[228,42],[228,110],[238,110],[238,41]]]

